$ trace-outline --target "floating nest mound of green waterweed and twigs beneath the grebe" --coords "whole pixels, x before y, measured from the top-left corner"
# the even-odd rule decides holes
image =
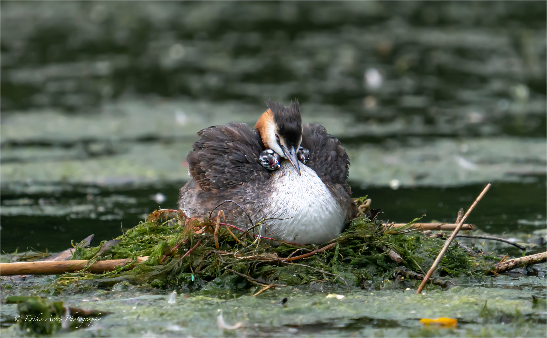
[[[355,203],[360,215],[336,239],[321,245],[298,245],[260,236],[268,220],[244,231],[229,224],[222,211],[203,222],[191,220],[183,211],[154,211],[146,222],[115,240],[96,247],[85,247],[84,241],[73,245],[76,250],[71,258],[89,260],[91,265],[97,260],[127,258],[136,263],[137,257],[148,256],[146,262],[104,274],[81,271],[60,275],[55,288],[81,291],[121,282],[185,290],[206,286],[248,289],[255,285],[262,292],[276,286],[318,283],[384,288],[405,277],[423,278],[445,241],[412,229],[418,219],[402,228],[390,228],[366,212],[370,200],[360,198]],[[446,287],[453,277],[480,276],[493,262],[487,255],[472,257],[454,242],[432,282]]]

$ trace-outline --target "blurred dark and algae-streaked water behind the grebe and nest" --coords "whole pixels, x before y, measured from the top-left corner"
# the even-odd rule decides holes
[[[3,246],[38,234],[7,224],[108,237],[174,207],[195,133],[254,125],[268,98],[341,139],[356,194],[389,209],[400,187],[399,221],[487,181],[544,210],[544,2],[0,6]]]

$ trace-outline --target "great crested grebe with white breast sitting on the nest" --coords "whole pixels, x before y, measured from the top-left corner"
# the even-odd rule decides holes
[[[181,188],[178,207],[207,218],[229,199],[254,222],[269,218],[264,236],[299,244],[331,240],[354,216],[346,151],[324,127],[302,124],[298,100],[267,106],[254,131],[228,123],[197,133],[187,157],[193,179]],[[237,205],[219,209],[232,224],[250,226]]]

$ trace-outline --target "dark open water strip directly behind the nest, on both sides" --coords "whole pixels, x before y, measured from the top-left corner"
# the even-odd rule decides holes
[[[531,183],[494,183],[473,211],[470,223],[486,233],[519,236],[545,229],[545,178],[531,177]],[[181,183],[182,184],[182,183]],[[457,211],[467,208],[484,188],[469,185],[456,188],[367,188],[353,187],[355,197],[368,195],[373,207],[383,210],[383,220],[410,222],[454,222]],[[73,187],[71,191],[50,194],[3,194],[2,205],[20,215],[2,217],[2,250],[13,252],[33,247],[36,250],[65,250],[71,240],[80,241],[90,234],[95,240],[109,240],[143,221],[154,209],[176,207],[179,185],[142,189],[101,189]],[[158,205],[152,198],[161,192],[165,201]],[[13,206],[14,204],[19,204]],[[22,204],[22,205],[21,205]],[[9,206],[5,206],[9,205]],[[43,206],[51,209],[51,216]],[[7,211],[4,211],[6,214]],[[36,212],[36,216],[29,216]],[[526,241],[526,240],[525,240]],[[544,246],[543,246],[544,247]]]

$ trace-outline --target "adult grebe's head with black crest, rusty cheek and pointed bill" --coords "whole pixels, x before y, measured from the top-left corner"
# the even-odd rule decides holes
[[[298,100],[291,101],[287,107],[268,100],[267,106],[254,129],[260,133],[266,149],[288,159],[300,175],[297,152],[302,142],[302,117]]]

